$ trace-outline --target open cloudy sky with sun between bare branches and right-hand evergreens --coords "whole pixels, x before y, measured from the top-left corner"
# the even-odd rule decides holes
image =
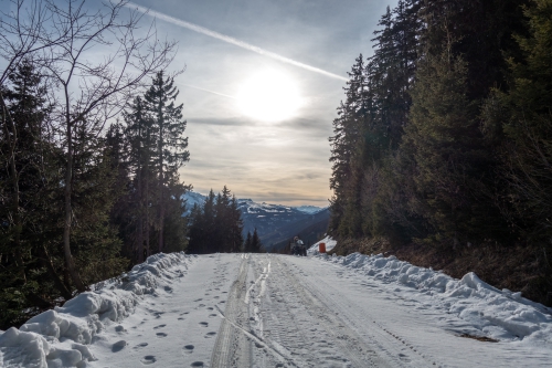
[[[372,54],[376,0],[135,0],[179,43],[193,190],[326,207],[332,120],[347,72]],[[269,87],[268,87],[269,86]]]

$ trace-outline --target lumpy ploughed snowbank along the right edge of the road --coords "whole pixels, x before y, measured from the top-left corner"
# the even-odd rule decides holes
[[[473,272],[457,280],[439,271],[399,261],[394,255],[317,256],[389,284],[394,292],[401,291],[397,286],[417,290],[420,296],[431,297],[437,308],[456,315],[484,336],[552,346],[552,308],[531,302],[521,293],[500,291]]]

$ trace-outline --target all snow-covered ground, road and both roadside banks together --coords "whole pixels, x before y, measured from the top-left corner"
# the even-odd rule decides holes
[[[0,332],[0,367],[550,367],[552,311],[519,293],[310,253],[151,256]]]

